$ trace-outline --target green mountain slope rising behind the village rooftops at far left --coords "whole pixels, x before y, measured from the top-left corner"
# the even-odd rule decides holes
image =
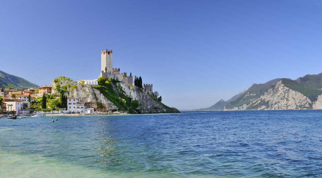
[[[0,88],[38,88],[39,86],[21,77],[0,71]]]

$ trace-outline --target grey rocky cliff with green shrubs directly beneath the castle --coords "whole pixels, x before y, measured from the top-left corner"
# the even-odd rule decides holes
[[[126,108],[125,106],[130,105],[126,102],[137,100],[139,102],[139,105],[137,108],[133,109],[133,113],[146,114],[180,112],[176,108],[171,108],[164,105],[149,93],[143,92],[142,90],[135,88],[133,85],[129,85],[120,81],[114,83],[110,82],[108,84],[110,86],[110,91],[104,92],[105,90],[103,89],[106,89],[105,86],[91,86],[81,84],[65,77],[59,77],[52,80],[53,93],[58,94],[60,92],[63,92],[67,96],[80,98],[80,101],[84,103],[85,106],[93,107],[96,110],[103,111],[118,109],[127,111],[129,108]],[[115,95],[110,97],[114,98],[110,99],[112,101],[107,98],[107,95],[110,96],[110,93],[108,92]],[[123,105],[120,105],[119,101],[123,102]]]

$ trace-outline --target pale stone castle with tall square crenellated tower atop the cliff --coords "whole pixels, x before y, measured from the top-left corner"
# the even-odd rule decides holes
[[[113,51],[105,49],[101,51],[101,72],[99,77],[108,77],[111,79],[118,79],[118,81],[122,81],[128,83],[130,85],[133,84],[133,76],[127,75],[126,72],[120,73],[120,68],[113,68]],[[81,80],[79,80],[80,82]],[[97,79],[96,80],[82,80],[84,84],[88,85],[98,85]],[[145,92],[153,92],[153,85],[152,84],[144,84],[143,91]]]

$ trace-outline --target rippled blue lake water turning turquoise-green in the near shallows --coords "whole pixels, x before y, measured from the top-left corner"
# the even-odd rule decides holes
[[[57,118],[0,118],[0,177],[322,176],[321,110]]]

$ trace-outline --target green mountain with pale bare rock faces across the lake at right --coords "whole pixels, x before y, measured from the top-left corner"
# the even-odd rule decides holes
[[[322,73],[253,84],[239,97],[221,103],[223,110],[322,109],[321,95]]]

